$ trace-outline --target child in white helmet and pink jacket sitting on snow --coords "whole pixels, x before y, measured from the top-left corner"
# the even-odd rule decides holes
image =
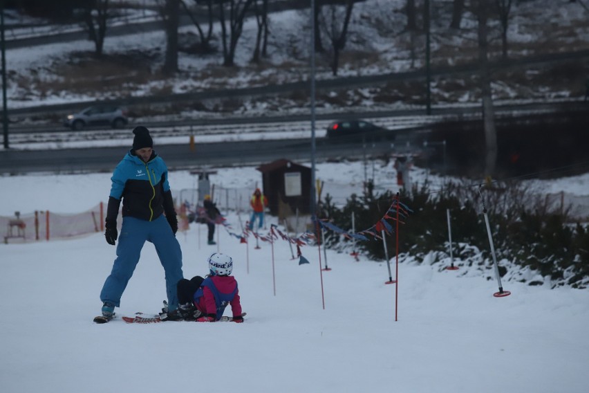
[[[221,319],[227,304],[231,304],[233,322],[243,322],[237,281],[231,275],[233,261],[230,256],[213,253],[209,257],[207,278],[199,275],[191,280],[178,281],[178,304],[169,313],[160,314],[161,320],[196,320],[196,322],[215,322]]]

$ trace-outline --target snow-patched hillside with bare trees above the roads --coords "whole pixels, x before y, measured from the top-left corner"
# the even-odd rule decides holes
[[[411,39],[406,32],[404,6],[404,0],[368,0],[355,4],[339,77],[415,71],[424,67],[424,35],[420,31]],[[469,8],[465,10],[461,29],[454,31],[448,28],[451,1],[433,2],[431,7],[432,65],[456,66],[476,60],[476,18]],[[129,21],[154,17],[153,12],[139,16],[143,19]],[[516,1],[510,17],[507,34],[509,56],[513,60],[589,49],[588,14],[579,2],[559,1],[556,5],[549,0]],[[498,60],[501,52],[498,23],[493,21],[489,26],[492,28],[491,57]],[[256,22],[250,19],[243,27],[237,47],[236,67],[221,66],[221,52],[198,55],[182,51],[176,77],[160,73],[165,53],[162,31],[117,37],[107,34],[102,60],[92,55],[93,43],[86,39],[34,49],[10,49],[7,51],[9,108],[305,81],[310,77],[308,28],[306,10],[273,13],[270,15],[268,57],[261,64],[252,64]],[[219,31],[216,25],[214,32],[218,34]],[[194,26],[180,28],[180,46],[194,44],[196,37]],[[326,37],[324,41],[327,46]],[[214,45],[221,51],[218,37]],[[329,62],[328,55],[317,57],[317,80],[333,78]],[[494,73],[494,99],[500,103],[581,98],[587,67],[586,59],[581,58],[555,66],[536,64]],[[433,103],[438,106],[476,104],[477,90],[470,77],[434,78]],[[350,111],[350,108],[422,107],[423,94],[424,86],[419,80],[333,89],[319,92],[317,110],[332,113]],[[178,102],[166,109],[135,107],[133,111],[143,118],[153,118],[163,112],[187,117],[306,113],[308,97],[289,94],[243,100],[204,100],[189,105]]]

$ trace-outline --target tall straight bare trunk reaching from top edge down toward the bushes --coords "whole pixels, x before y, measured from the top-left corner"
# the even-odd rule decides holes
[[[492,175],[495,172],[497,161],[497,131],[495,128],[495,111],[488,58],[487,19],[489,19],[489,2],[487,0],[477,0],[476,3],[480,95],[483,104],[483,130],[485,132],[485,174]]]

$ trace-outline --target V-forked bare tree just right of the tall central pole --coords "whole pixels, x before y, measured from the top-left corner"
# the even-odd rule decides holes
[[[319,19],[324,33],[331,44],[333,57],[331,59],[331,71],[334,76],[337,75],[339,68],[339,54],[346,47],[346,37],[348,35],[348,26],[355,0],[346,0],[344,5],[344,17],[342,18],[342,9],[339,6],[327,6],[321,9]],[[327,16],[326,16],[327,14]]]

